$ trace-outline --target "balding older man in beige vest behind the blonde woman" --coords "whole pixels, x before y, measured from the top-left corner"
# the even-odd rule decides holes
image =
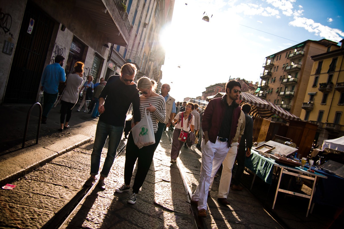
[[[175,99],[169,94],[171,87],[169,84],[165,83],[161,86],[161,93],[162,97],[164,97],[166,102],[166,119],[164,123],[158,123],[158,130],[155,134],[155,149],[157,149],[162,133],[164,132],[165,126],[170,127],[171,121],[173,120],[176,114],[175,108]]]

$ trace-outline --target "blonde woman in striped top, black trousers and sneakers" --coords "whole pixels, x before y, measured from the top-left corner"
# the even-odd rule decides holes
[[[140,113],[141,118],[144,116],[144,110],[147,108],[147,111],[150,112],[152,122],[153,122],[153,129],[154,135],[157,133],[158,130],[158,121],[163,123],[165,122],[166,118],[166,105],[165,99],[154,92],[154,89],[157,85],[157,82],[154,80],[150,80],[147,77],[142,77],[139,79],[137,83],[137,88],[140,91]],[[136,120],[132,120],[131,127],[135,126],[134,122]],[[154,136],[155,137],[155,136]],[[124,184],[122,187],[117,188],[116,192],[129,192],[130,190],[130,181],[132,177],[132,173],[134,170],[134,165],[136,160],[138,160],[137,165],[137,172],[135,175],[134,184],[132,186],[132,194],[128,200],[129,204],[136,203],[137,193],[139,192],[144,180],[146,179],[148,170],[153,160],[155,151],[155,144],[144,146],[139,149],[132,137],[132,133],[130,131],[126,146],[126,162],[124,167]]]

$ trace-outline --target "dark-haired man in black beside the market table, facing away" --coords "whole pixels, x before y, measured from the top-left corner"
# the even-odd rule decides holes
[[[243,136],[241,136],[239,149],[236,156],[238,167],[232,185],[232,190],[235,191],[243,190],[243,187],[239,186],[239,184],[241,176],[243,175],[245,169],[245,155],[246,157],[249,157],[251,155],[253,135],[253,119],[250,116],[248,116],[248,113],[250,113],[251,111],[250,104],[245,103],[243,106],[241,106],[241,110],[245,114],[245,129]]]

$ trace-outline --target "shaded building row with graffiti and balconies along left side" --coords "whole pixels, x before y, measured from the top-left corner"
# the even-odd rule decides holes
[[[1,104],[36,102],[43,70],[56,55],[65,57],[66,74],[73,72],[76,61],[84,62],[84,79],[91,75],[94,82],[118,74],[127,62],[141,70],[147,59],[147,30],[158,27],[159,35],[172,18],[173,5],[170,0],[2,2],[7,23],[0,33]]]

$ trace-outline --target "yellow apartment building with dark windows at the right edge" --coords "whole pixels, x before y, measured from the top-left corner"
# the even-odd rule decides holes
[[[315,143],[344,135],[344,39],[342,46],[311,56],[313,67],[301,118],[318,125]]]

